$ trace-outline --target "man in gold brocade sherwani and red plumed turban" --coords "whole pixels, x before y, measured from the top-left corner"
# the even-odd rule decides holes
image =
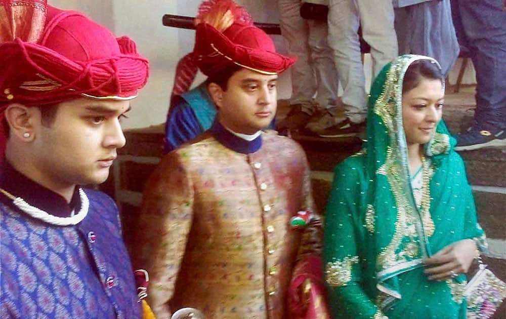
[[[321,220],[304,151],[261,130],[276,112],[277,73],[294,59],[275,53],[244,10],[217,3],[233,23],[218,26],[217,5],[201,12],[193,54],[218,116],[151,176],[134,256],[158,318],[184,307],[205,318],[289,317],[293,268],[319,254]]]

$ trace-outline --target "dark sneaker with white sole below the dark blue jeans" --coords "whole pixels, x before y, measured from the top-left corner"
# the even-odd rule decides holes
[[[487,147],[506,147],[506,131],[481,130],[478,125],[471,126],[457,136],[457,151],[467,151]]]

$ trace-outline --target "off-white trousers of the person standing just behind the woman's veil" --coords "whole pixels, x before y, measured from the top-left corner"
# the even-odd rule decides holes
[[[367,100],[358,27],[371,46],[373,75],[397,57],[392,0],[330,0],[329,38],[344,92],[342,102],[352,122],[365,119]]]

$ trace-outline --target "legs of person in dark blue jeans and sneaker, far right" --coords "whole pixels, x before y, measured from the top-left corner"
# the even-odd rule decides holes
[[[476,69],[476,112],[455,150],[506,146],[506,11],[502,0],[451,0],[459,42]]]

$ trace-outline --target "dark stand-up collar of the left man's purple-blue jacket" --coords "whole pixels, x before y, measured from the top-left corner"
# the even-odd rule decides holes
[[[4,158],[3,163],[0,165],[0,188],[3,188],[15,197],[23,198],[31,206],[58,217],[69,217],[72,210],[77,212],[81,206],[78,186],[74,189],[70,203],[67,203],[65,198],[60,194],[18,172],[6,158]],[[1,198],[7,197],[2,196]],[[2,202],[15,207],[11,200]]]

